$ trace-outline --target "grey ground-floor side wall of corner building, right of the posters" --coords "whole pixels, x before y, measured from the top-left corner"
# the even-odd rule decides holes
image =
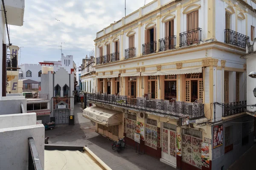
[[[250,122],[248,122],[250,121]],[[249,127],[249,143],[242,146],[242,123],[247,122]],[[225,146],[225,127],[233,125],[233,150],[224,154]],[[223,123],[223,145],[212,149],[212,170],[224,170],[230,167],[246,150],[253,145],[253,119],[251,116],[244,116]]]

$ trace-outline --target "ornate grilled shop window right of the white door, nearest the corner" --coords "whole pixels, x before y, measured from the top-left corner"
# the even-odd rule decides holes
[[[201,169],[202,132],[182,129],[182,161]]]

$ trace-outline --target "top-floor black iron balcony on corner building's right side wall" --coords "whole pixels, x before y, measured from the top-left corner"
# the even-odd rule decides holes
[[[249,37],[243,34],[240,34],[231,29],[225,29],[224,31],[224,42],[227,44],[232,44],[245,48],[246,42],[249,40]]]

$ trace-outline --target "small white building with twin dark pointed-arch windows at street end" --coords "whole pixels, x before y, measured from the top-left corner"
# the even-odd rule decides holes
[[[59,68],[52,72],[48,69],[41,74],[40,94],[49,94],[51,121],[68,124],[70,116],[74,115],[74,71],[68,73],[65,68]]]

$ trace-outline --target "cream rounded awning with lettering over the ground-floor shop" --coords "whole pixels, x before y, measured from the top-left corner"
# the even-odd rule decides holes
[[[97,106],[85,108],[83,116],[107,127],[122,124],[122,112]]]

